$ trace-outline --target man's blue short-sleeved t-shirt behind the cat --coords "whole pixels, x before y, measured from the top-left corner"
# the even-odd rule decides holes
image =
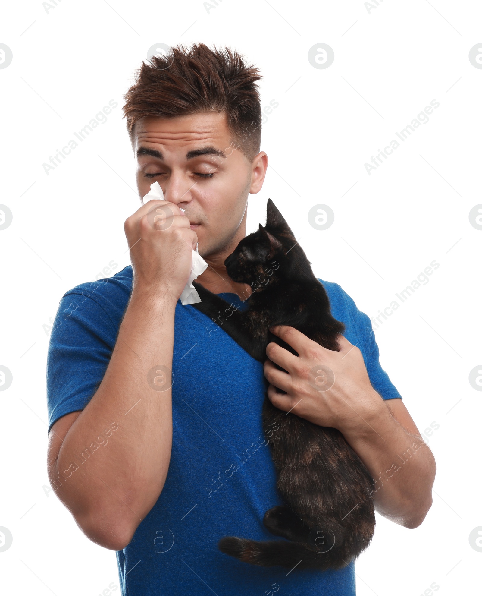
[[[338,284],[322,281],[333,316],[363,354],[372,386],[400,398],[378,361],[371,322]],[[132,289],[132,267],[77,285],[60,301],[48,351],[49,430],[85,408],[101,383]],[[236,294],[222,294],[242,308]],[[217,548],[222,536],[272,540],[265,512],[282,505],[262,428],[263,365],[222,327],[181,305],[175,311],[172,454],[164,488],[132,541],[117,552],[123,596],[355,594],[342,570],[258,567]],[[78,462],[77,462],[78,463]],[[276,491],[276,492],[275,492]],[[279,538],[282,540],[282,538]]]

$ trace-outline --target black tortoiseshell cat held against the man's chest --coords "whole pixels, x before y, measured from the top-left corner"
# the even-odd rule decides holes
[[[193,306],[221,324],[253,358],[264,362],[271,341],[297,354],[273,335],[275,325],[290,325],[322,346],[340,350],[337,334],[343,333],[344,324],[331,315],[325,288],[270,199],[266,226],[260,224],[259,230],[243,238],[225,265],[232,280],[253,288],[247,310],[234,310],[198,283],[202,302]],[[374,479],[340,431],[287,414],[275,408],[266,394],[263,428],[275,425],[279,430],[270,447],[278,491],[287,506],[267,511],[263,523],[287,541],[226,536],[219,549],[261,566],[341,569],[372,539]]]

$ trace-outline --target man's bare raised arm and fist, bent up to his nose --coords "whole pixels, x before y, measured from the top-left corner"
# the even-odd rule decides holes
[[[162,230],[151,215],[160,204],[171,209],[170,226]],[[129,544],[166,479],[171,390],[169,374],[156,369],[172,368],[175,307],[197,243],[188,218],[167,201],[143,205],[126,220],[125,231],[133,289],[110,362],[85,409],[52,426],[48,449],[58,498],[88,538],[111,550]],[[158,391],[161,381],[169,389]],[[98,449],[97,437],[110,429],[108,444]]]

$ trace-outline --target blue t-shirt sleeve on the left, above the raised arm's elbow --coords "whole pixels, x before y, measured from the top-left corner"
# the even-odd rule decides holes
[[[115,327],[92,297],[70,292],[60,300],[47,354],[48,430],[85,408],[97,391],[116,344]]]

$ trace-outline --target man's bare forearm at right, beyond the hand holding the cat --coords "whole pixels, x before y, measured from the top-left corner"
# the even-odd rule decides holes
[[[365,403],[340,430],[375,479],[377,511],[393,522],[417,527],[432,503],[433,454],[421,437],[395,420],[387,402],[379,397]]]

